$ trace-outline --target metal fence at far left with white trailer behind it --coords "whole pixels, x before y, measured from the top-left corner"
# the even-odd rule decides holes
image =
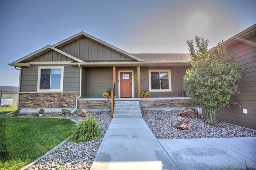
[[[0,93],[0,111],[14,111],[18,105],[18,93]]]

